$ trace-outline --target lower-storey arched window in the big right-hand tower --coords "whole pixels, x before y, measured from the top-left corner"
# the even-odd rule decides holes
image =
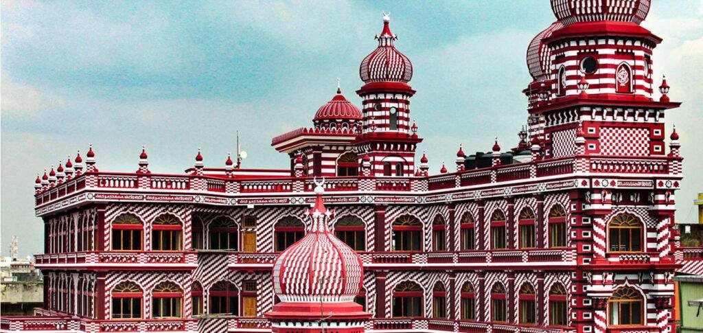
[[[621,287],[608,299],[610,325],[643,325],[644,299],[632,287]]]

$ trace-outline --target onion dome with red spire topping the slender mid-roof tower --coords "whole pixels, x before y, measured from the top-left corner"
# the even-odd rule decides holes
[[[361,81],[369,82],[403,82],[413,78],[413,63],[403,53],[396,50],[393,41],[398,37],[389,27],[390,17],[383,14],[383,30],[376,35],[378,48],[361,60],[359,75]]]

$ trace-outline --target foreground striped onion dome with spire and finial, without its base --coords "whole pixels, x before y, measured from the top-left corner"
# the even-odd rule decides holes
[[[310,221],[307,235],[281,252],[273,265],[273,290],[281,302],[273,306],[273,312],[267,317],[281,318],[284,308],[319,317],[322,301],[335,303],[337,307],[352,306],[349,309],[356,309],[352,313],[366,315],[361,306],[354,307],[354,297],[363,282],[361,257],[330,233],[328,223],[334,211],[328,211],[323,204],[324,181],[315,183],[315,205],[305,211]],[[303,307],[300,303],[306,305]],[[315,304],[316,311],[304,313]],[[331,307],[325,305],[325,310],[330,311]]]

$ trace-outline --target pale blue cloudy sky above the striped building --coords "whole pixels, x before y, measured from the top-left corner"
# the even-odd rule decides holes
[[[703,1],[654,0],[643,26],[671,100],[685,181],[677,220],[696,218],[703,192]],[[247,168],[285,168],[271,138],[311,125],[337,77],[356,105],[361,59],[376,47],[381,11],[413,62],[411,117],[431,173],[459,143],[517,143],[527,121],[525,52],[555,20],[546,0],[492,1],[13,1],[0,2],[0,249],[42,251],[34,178],[92,143],[101,170],[182,172],[202,148],[224,166],[240,133]],[[657,95],[658,96],[658,95]],[[668,148],[667,148],[668,150]]]

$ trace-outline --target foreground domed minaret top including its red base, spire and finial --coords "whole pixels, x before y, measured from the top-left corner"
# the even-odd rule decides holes
[[[273,292],[280,303],[266,313],[274,333],[360,333],[370,313],[354,302],[363,284],[361,257],[329,230],[324,181],[315,181],[315,206],[307,235],[273,264]]]

